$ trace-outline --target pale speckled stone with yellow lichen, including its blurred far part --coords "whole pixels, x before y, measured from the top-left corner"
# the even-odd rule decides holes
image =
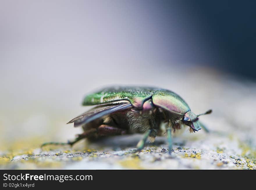
[[[193,78],[195,74],[197,77]],[[45,108],[41,114],[23,113],[16,122],[12,121],[11,112],[1,110],[0,168],[256,169],[256,84],[205,70],[191,71],[182,77],[178,72],[173,75],[179,80],[169,80],[163,74],[153,85],[161,84],[179,94],[196,114],[210,108],[213,113],[200,116],[210,133],[203,130],[189,133],[188,127],[177,131],[171,155],[165,137],[157,137],[153,144],[134,153],[141,135],[111,137],[91,144],[82,141],[72,148],[41,149],[43,142],[65,142],[80,133],[80,128],[65,123],[88,108],[79,105],[62,109],[65,111]],[[28,107],[20,111],[33,110],[33,106]]]

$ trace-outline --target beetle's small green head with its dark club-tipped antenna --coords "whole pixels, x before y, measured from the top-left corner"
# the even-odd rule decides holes
[[[193,112],[188,111],[184,114],[182,122],[185,125],[191,127],[192,130],[195,132],[195,131],[198,131],[198,130],[202,129],[201,126],[200,126],[200,123],[198,122],[198,116],[205,115],[205,114],[210,114],[210,113],[211,113],[211,110],[208,110],[207,112],[205,112],[203,114],[196,115]]]

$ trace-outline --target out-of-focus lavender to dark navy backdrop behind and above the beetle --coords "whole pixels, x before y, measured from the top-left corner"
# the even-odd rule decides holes
[[[210,128],[246,131],[256,106],[255,4],[0,1],[1,149],[73,139],[81,129],[65,123],[88,109],[83,96],[114,84],[173,90],[196,113],[214,110]]]

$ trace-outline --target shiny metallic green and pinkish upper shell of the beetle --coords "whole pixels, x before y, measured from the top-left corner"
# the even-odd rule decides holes
[[[109,87],[88,94],[83,105],[98,105],[115,101],[129,101],[140,107],[152,97],[153,104],[180,115],[190,110],[187,103],[177,94],[166,89],[152,87]]]

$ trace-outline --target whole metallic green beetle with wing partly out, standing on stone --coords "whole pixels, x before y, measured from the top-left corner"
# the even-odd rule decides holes
[[[208,110],[196,115],[178,94],[155,87],[107,87],[86,95],[82,105],[95,107],[68,122],[74,123],[74,127],[82,126],[84,132],[67,144],[72,146],[83,138],[145,133],[137,144],[136,151],[140,151],[148,137],[153,142],[157,135],[161,135],[160,126],[164,124],[169,153],[172,151],[172,130],[186,125],[190,132],[202,127],[208,131],[200,124],[198,116],[212,112]],[[42,146],[47,144],[66,143],[45,143]]]

